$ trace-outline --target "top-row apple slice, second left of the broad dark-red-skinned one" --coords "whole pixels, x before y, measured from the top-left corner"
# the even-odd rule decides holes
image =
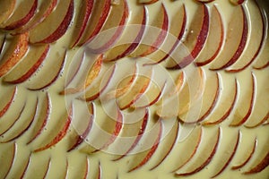
[[[145,31],[140,45],[134,50],[131,57],[150,55],[164,42],[169,28],[169,17],[164,4],[161,4],[161,12],[155,14],[151,27]],[[150,14],[149,17],[152,17]]]

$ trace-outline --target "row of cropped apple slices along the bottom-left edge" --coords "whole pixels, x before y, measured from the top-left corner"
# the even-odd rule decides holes
[[[100,178],[101,166],[100,162],[90,160],[90,158],[82,155],[79,160],[74,160],[74,156],[59,158],[55,155],[45,155],[39,158],[36,154],[21,152],[21,147],[15,142],[8,143],[1,148],[1,155],[6,158],[6,165],[0,169],[0,177],[24,178],[24,177],[79,177],[79,178]],[[17,158],[21,158],[18,160]],[[77,158],[77,156],[76,156]],[[56,163],[61,161],[62,165]],[[81,166],[80,169],[74,166]],[[17,167],[20,166],[20,167]],[[39,166],[39,167],[36,167]],[[57,167],[55,167],[57,166]],[[37,173],[30,171],[35,168]],[[75,168],[75,169],[74,169]],[[56,172],[57,171],[57,172]],[[59,172],[63,171],[63,172]],[[95,172],[93,172],[95,171]],[[56,175],[55,175],[56,174]]]

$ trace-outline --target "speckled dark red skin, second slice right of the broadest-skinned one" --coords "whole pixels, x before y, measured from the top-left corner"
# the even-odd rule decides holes
[[[237,51],[234,53],[234,55],[230,58],[230,60],[222,65],[221,67],[210,69],[210,70],[223,70],[225,68],[230,67],[231,64],[234,64],[239,59],[240,55],[243,53],[246,44],[247,44],[247,34],[248,34],[248,23],[247,23],[247,14],[243,6],[241,7],[241,11],[243,13],[243,32],[242,32],[242,38],[239,42],[239,47]]]

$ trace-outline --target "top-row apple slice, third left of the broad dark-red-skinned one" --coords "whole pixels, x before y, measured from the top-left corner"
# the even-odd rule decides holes
[[[104,62],[116,61],[117,59],[131,54],[141,42],[145,30],[145,24],[148,19],[148,11],[144,6],[143,10],[141,10],[140,7],[137,9],[138,10],[134,10],[134,12],[132,10],[130,20],[128,21],[129,25],[126,26],[126,29],[121,38],[118,39],[117,44],[104,54]],[[143,13],[141,11],[143,11]]]

